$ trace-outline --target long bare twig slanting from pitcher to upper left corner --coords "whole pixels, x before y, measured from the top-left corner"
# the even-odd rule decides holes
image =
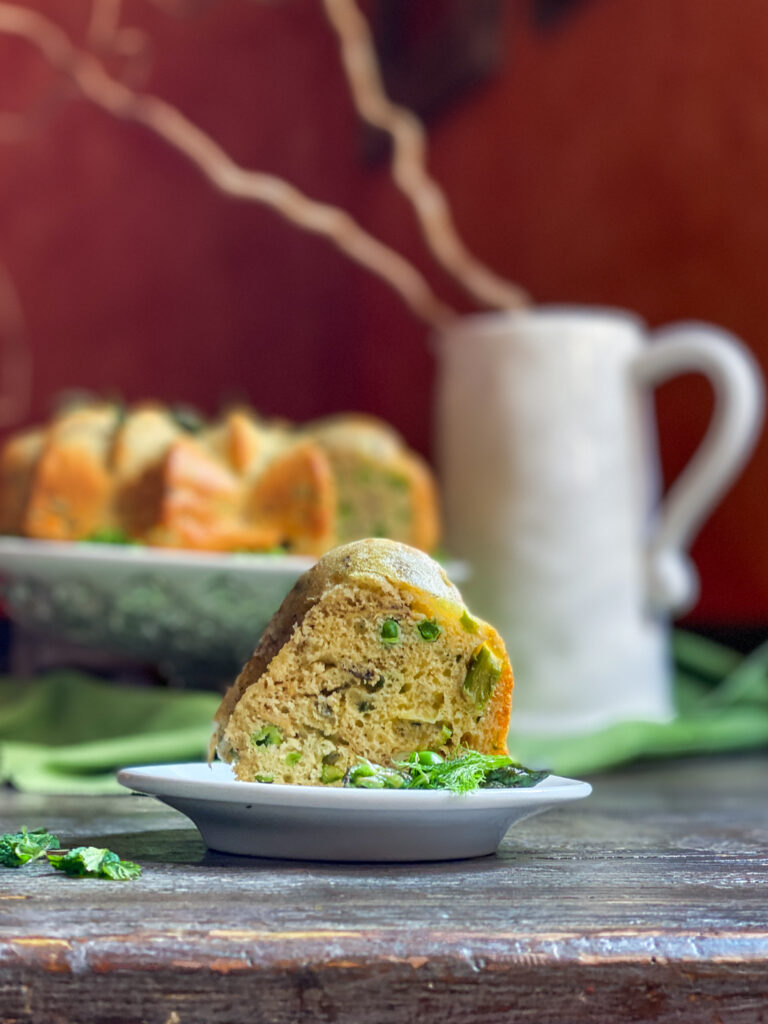
[[[263,204],[305,230],[331,241],[347,256],[386,281],[409,307],[433,327],[454,312],[431,291],[408,260],[361,228],[344,210],[309,199],[282,178],[241,167],[179,110],[112,78],[91,53],[38,11],[0,2],[0,33],[34,46],[90,102],[116,118],[135,121],[187,158],[219,191]]]

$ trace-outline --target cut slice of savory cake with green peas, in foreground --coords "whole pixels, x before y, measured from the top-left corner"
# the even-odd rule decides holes
[[[507,753],[512,668],[429,556],[387,540],[302,575],[216,714],[239,779],[340,783],[360,759]]]

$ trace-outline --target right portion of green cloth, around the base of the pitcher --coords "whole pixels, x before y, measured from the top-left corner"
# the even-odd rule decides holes
[[[673,653],[673,721],[623,722],[575,736],[515,736],[513,757],[578,776],[641,758],[768,748],[768,643],[743,656],[681,630],[674,635]]]

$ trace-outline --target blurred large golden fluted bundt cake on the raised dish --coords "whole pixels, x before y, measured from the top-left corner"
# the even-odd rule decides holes
[[[389,427],[303,427],[247,408],[217,422],[158,402],[90,402],[0,453],[0,531],[170,548],[321,555],[360,537],[439,543],[437,488]]]

